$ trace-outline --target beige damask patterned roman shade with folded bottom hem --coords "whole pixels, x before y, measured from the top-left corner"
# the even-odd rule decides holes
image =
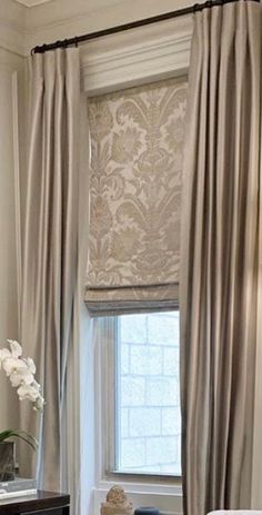
[[[89,102],[91,314],[178,305],[185,99],[172,79]]]

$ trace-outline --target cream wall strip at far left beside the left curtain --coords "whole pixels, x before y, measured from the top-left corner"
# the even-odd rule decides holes
[[[19,334],[20,206],[24,59],[17,53],[22,20],[20,6],[1,0],[0,11],[0,348]],[[21,128],[22,129],[22,128]],[[20,135],[19,135],[20,132]],[[20,139],[21,142],[21,139]],[[18,400],[0,372],[0,430],[18,426]]]

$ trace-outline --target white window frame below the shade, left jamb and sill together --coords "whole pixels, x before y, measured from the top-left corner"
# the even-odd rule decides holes
[[[129,474],[113,471],[115,463],[115,334],[117,318],[104,317],[94,324],[95,363],[95,449],[97,488],[94,488],[94,513],[104,499],[108,489],[115,483],[130,494],[134,505],[158,506],[162,513],[180,514],[182,504],[181,478],[169,475]],[[175,508],[175,512],[173,512]]]

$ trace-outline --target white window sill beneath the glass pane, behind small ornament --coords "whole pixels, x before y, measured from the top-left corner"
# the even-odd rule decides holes
[[[138,506],[155,506],[163,515],[182,515],[181,484],[163,485],[159,483],[130,483],[123,481],[101,481],[93,488],[93,514],[99,515],[100,505],[104,502],[108,491],[115,485],[122,486],[134,508]]]

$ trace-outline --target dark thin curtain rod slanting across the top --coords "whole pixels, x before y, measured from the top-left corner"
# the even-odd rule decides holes
[[[192,14],[198,11],[202,11],[206,8],[212,8],[215,6],[224,6],[225,3],[232,3],[240,0],[209,0],[204,3],[195,3],[194,6],[185,7],[183,9],[178,9],[177,11],[164,12],[163,14],[152,16],[150,18],[144,18],[142,20],[131,21],[130,23],[123,23],[115,27],[110,27],[109,29],[98,30],[95,32],[89,32],[82,36],[75,36],[74,38],[58,40],[53,43],[46,43],[37,46],[31,50],[32,53],[44,53],[49,50],[56,50],[57,48],[67,48],[69,46],[78,47],[79,43],[90,41],[92,39],[103,38],[104,36],[115,34],[118,32],[124,32],[125,30],[137,29],[138,27],[145,27],[151,23],[158,23],[160,21],[171,20],[172,18],[179,18],[181,16]],[[260,3],[260,0],[251,0]]]

